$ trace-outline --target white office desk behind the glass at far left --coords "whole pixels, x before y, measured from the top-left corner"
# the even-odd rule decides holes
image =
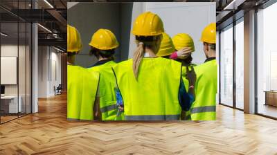
[[[17,113],[21,112],[21,100],[22,97],[19,95],[19,102],[17,106],[17,95],[4,95],[1,96],[1,111],[3,113]],[[18,110],[18,111],[17,111]]]

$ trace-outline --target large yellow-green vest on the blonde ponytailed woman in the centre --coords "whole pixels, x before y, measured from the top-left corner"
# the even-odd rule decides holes
[[[130,59],[113,67],[123,97],[125,120],[179,120],[181,63],[163,57],[145,57],[137,80],[132,64]]]

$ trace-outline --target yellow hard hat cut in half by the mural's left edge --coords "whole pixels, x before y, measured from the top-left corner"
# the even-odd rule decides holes
[[[82,41],[76,28],[67,25],[67,52],[79,52],[82,50]]]

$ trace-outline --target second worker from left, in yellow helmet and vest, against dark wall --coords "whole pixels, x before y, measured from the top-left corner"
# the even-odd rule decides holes
[[[98,95],[95,109],[96,116],[101,120],[123,120],[123,113],[116,106],[116,94],[114,87],[116,79],[111,69],[116,64],[114,53],[119,44],[114,33],[107,29],[99,29],[91,37],[90,54],[96,56],[98,62],[89,67],[89,71],[100,73]],[[98,115],[99,114],[99,115]]]

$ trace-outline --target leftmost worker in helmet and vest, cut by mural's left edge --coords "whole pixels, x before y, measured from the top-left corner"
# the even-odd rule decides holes
[[[75,65],[75,55],[82,50],[76,28],[67,25],[67,119],[93,120],[99,73]]]

